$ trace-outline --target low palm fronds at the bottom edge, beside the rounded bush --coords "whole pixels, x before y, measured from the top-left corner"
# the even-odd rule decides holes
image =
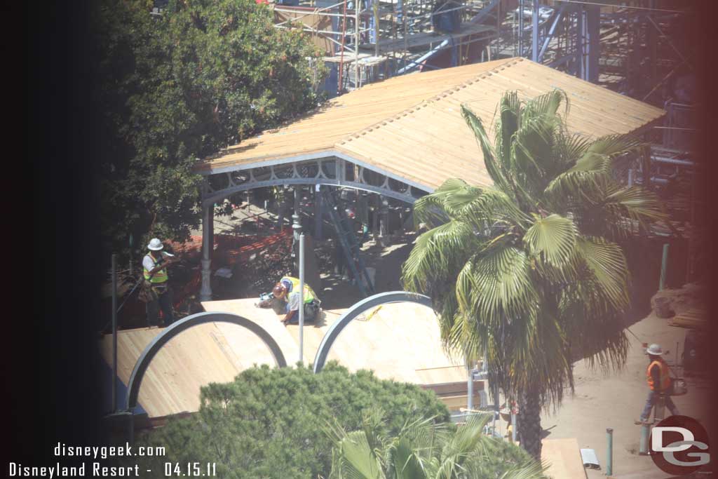
[[[329,479],[546,479],[526,452],[483,434],[488,419],[471,416],[458,429],[416,419],[391,437],[382,411],[371,411],[358,431],[327,428],[335,441]]]

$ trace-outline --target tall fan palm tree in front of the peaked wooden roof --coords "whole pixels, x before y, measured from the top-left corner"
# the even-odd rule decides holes
[[[561,103],[565,108],[559,112]],[[542,408],[573,393],[572,363],[623,366],[629,272],[620,243],[664,220],[653,193],[616,169],[643,145],[569,134],[568,98],[505,93],[494,144],[466,106],[493,187],[447,180],[414,205],[421,234],[404,287],[432,297],[442,340],[518,400],[518,440],[541,457]]]

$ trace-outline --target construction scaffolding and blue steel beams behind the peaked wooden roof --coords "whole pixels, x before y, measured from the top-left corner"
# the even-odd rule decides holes
[[[416,70],[505,57],[535,62],[661,105],[691,73],[690,2],[675,0],[289,0],[279,28],[325,51],[330,93]]]

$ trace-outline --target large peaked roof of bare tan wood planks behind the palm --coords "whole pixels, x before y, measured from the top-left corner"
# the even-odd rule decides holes
[[[510,58],[366,85],[304,118],[243,141],[197,165],[199,172],[277,159],[344,154],[433,190],[450,177],[490,185],[482,154],[460,114],[466,103],[489,125],[503,93],[569,96],[572,132],[627,134],[661,118],[661,108],[523,58]]]

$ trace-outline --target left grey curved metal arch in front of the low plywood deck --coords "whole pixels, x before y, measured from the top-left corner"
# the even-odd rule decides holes
[[[127,384],[128,392],[125,404],[126,411],[133,411],[137,406],[139,386],[142,383],[144,373],[147,371],[149,363],[151,363],[154,356],[157,355],[160,349],[162,349],[162,346],[180,334],[180,332],[188,330],[190,327],[202,325],[208,322],[229,322],[234,325],[245,327],[256,334],[259,339],[264,342],[267,348],[269,348],[269,352],[272,357],[274,357],[274,362],[277,366],[280,368],[286,367],[286,360],[284,359],[284,354],[281,353],[281,349],[279,349],[279,345],[276,343],[274,338],[269,335],[269,332],[266,332],[266,330],[264,330],[264,328],[256,322],[250,321],[246,317],[233,315],[228,312],[199,312],[196,315],[190,315],[182,318],[182,320],[172,323],[172,325],[160,332],[159,335],[157,335],[151,343],[144,348],[144,351],[142,351],[142,354],[135,363],[130,376],[130,381]]]

